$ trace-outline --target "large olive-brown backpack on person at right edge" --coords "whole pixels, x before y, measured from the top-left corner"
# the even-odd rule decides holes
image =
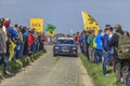
[[[119,59],[130,59],[130,38],[123,34],[117,34],[119,37],[117,57]]]

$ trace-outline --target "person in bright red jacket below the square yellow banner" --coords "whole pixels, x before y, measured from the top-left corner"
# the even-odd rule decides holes
[[[31,47],[32,47],[34,42],[35,42],[34,31],[30,30],[28,33],[28,53],[29,54],[32,54]]]

